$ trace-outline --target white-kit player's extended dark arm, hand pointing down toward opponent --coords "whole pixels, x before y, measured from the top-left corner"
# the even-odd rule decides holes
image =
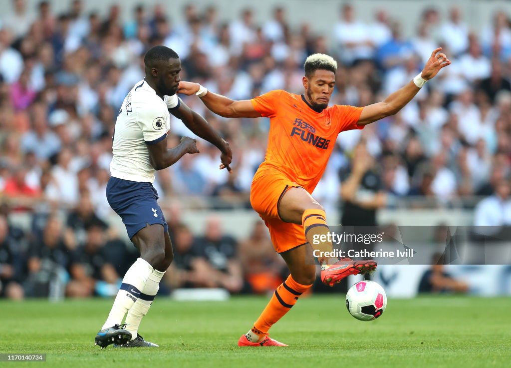
[[[194,134],[216,146],[221,152],[220,160],[222,164],[220,169],[227,168],[228,171],[231,171],[229,165],[233,160],[233,152],[230,150],[229,144],[222,139],[203,117],[182,101],[178,108],[169,109],[169,112],[177,119],[180,119]]]

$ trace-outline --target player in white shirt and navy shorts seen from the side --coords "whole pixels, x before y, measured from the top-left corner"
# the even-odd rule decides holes
[[[115,122],[106,189],[108,202],[123,219],[140,258],[126,272],[108,318],[96,335],[95,343],[102,349],[112,343],[115,347],[157,347],[137,333],[174,257],[167,222],[152,186],[154,172],[168,168],[187,153],[199,152],[196,140],[190,137],[167,149],[170,114],[218,147],[220,169],[230,171],[232,159],[229,144],[176,96],[179,56],[165,46],[156,46],[146,53],[144,64],[146,77],[126,96]]]

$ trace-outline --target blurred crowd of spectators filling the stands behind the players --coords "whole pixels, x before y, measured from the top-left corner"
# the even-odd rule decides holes
[[[214,6],[192,3],[173,18],[162,5],[141,3],[129,19],[121,18],[119,4],[106,17],[85,14],[81,0],[61,14],[46,1],[36,9],[24,0],[11,5],[0,16],[0,295],[117,292],[134,254],[107,225],[111,136],[124,97],[144,78],[144,53],[157,44],[178,53],[182,80],[237,100],[272,89],[303,93],[305,58],[327,53],[339,62],[332,102],[356,106],[380,101],[411,80],[441,45],[452,65],[396,116],[342,133],[314,196],[325,203],[347,200],[341,182],[353,170],[371,170],[374,182],[366,189],[385,195],[376,208],[401,198],[449,206],[487,197],[476,206],[476,224],[511,224],[511,21],[502,11],[474,33],[461,8],[445,14],[427,8],[416,32],[405,35],[384,10],[366,24],[343,5],[327,37],[312,24],[291,25],[280,7],[256,24],[248,8],[224,22]],[[248,207],[269,121],[227,120],[197,98],[182,98],[229,141],[234,171],[219,171],[217,149],[199,142],[200,154],[157,173],[160,197],[219,210]],[[193,136],[171,119],[171,145]],[[360,146],[368,159],[352,168]],[[495,209],[504,209],[502,216],[493,216]],[[10,224],[13,212],[30,214],[30,232]],[[169,290],[264,292],[280,284],[282,261],[261,223],[247,239],[235,240],[221,233],[214,217],[202,238],[172,214],[168,220],[176,254]]]

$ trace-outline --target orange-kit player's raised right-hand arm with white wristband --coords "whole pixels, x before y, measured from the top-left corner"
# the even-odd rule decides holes
[[[365,106],[360,114],[358,125],[366,125],[377,120],[396,114],[419,92],[424,83],[436,76],[443,67],[450,65],[451,61],[438,48],[431,53],[422,72],[413,78],[407,85],[389,95],[382,102]]]

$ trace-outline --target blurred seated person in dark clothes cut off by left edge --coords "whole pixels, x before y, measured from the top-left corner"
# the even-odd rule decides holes
[[[5,216],[0,215],[0,297],[22,300],[21,287],[25,259],[20,254],[19,242],[9,231]]]

